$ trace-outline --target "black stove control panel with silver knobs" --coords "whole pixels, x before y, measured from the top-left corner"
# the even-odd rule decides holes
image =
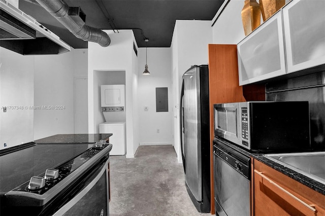
[[[23,191],[36,194],[44,194],[62,179],[66,178],[69,174],[74,172],[96,154],[106,148],[109,143],[95,143],[93,147],[87,149],[79,156],[55,167],[54,169],[49,168],[45,171],[45,174],[39,176],[32,176],[29,182],[15,188],[13,191]]]

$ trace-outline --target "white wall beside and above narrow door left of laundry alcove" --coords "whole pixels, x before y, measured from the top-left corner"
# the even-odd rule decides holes
[[[87,50],[35,56],[34,138],[74,133],[74,78],[87,77]],[[86,118],[86,117],[85,117]]]

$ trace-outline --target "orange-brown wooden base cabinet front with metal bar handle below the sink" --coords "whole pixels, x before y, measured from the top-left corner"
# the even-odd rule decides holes
[[[325,196],[253,160],[253,215],[325,215]]]

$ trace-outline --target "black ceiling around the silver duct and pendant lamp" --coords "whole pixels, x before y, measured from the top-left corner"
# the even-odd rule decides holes
[[[70,7],[80,7],[86,15],[86,24],[91,27],[133,29],[139,47],[146,46],[144,37],[149,39],[148,47],[170,47],[175,20],[212,20],[224,0],[66,0],[65,2]],[[19,0],[19,9],[34,17],[73,48],[88,47],[87,42],[77,39],[35,0]]]

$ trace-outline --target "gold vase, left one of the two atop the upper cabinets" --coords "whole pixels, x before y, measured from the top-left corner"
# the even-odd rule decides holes
[[[245,0],[241,14],[245,35],[261,24],[261,9],[256,0]]]

